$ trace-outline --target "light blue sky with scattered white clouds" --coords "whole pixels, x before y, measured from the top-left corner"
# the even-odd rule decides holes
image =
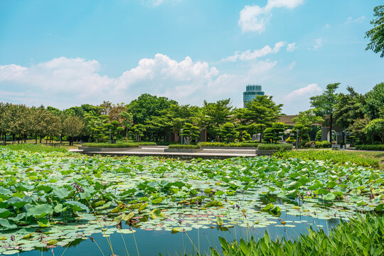
[[[201,106],[246,85],[285,114],[341,82],[366,93],[384,58],[365,50],[382,0],[0,0],[0,102],[65,109],[143,93]]]

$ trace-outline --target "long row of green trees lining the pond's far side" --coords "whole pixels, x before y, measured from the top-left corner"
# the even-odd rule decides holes
[[[268,95],[258,95],[245,108],[233,107],[230,99],[204,101],[197,107],[149,94],[129,104],[105,101],[66,110],[0,103],[0,138],[2,142],[7,137],[12,142],[33,138],[41,143],[43,139],[58,139],[61,134],[73,144],[75,138],[85,142],[176,142],[183,135],[188,144],[201,136],[207,141],[242,142],[250,140],[252,134],[261,134],[264,142],[277,142],[282,132],[291,128],[295,134],[299,132],[299,142],[308,142],[310,134],[313,139],[320,129],[314,124],[330,128],[338,124],[351,131],[360,143],[383,142],[379,129],[384,117],[384,83],[366,94],[358,94],[352,87],[347,87],[346,94],[336,93],[338,86],[327,85],[321,95],[311,97],[314,108],[300,112],[292,120],[293,127],[277,122],[283,115],[283,105]]]

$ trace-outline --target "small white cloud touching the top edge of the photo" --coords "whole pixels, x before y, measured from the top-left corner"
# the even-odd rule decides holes
[[[242,28],[242,32],[256,31],[261,33],[265,31],[265,26],[272,16],[272,9],[282,7],[294,9],[303,3],[304,0],[268,0],[264,7],[245,6],[240,11],[238,25]]]

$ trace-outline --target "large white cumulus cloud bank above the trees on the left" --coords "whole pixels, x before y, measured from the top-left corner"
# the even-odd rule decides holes
[[[177,61],[159,53],[139,60],[136,67],[117,78],[100,75],[99,70],[97,60],[65,57],[29,67],[0,65],[0,101],[71,107],[102,100],[129,102],[151,93],[197,104],[201,95],[209,100],[210,95],[220,97],[232,90],[236,82],[240,86],[235,75],[220,74],[206,62],[193,62],[189,57]],[[220,90],[215,87],[218,83]],[[196,102],[191,102],[191,97]]]

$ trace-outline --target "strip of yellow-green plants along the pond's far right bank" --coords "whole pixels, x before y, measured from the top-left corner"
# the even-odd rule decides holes
[[[299,158],[308,160],[329,160],[334,164],[346,164],[347,162],[356,164],[358,166],[372,166],[379,167],[379,161],[377,159],[367,159],[362,156],[356,156],[346,154],[341,151],[330,151],[330,150],[305,150],[305,151],[285,151],[277,152],[274,154],[277,158]]]

